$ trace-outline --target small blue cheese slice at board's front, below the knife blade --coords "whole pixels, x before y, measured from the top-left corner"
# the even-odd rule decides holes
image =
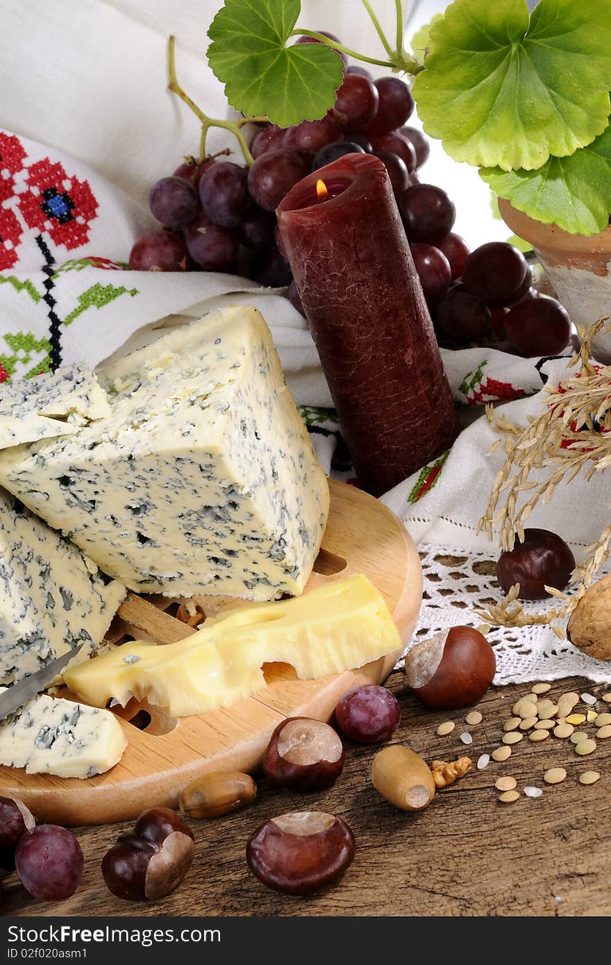
[[[0,764],[25,767],[27,774],[95,777],[114,767],[126,746],[121,724],[109,710],[46,695],[0,723]]]

